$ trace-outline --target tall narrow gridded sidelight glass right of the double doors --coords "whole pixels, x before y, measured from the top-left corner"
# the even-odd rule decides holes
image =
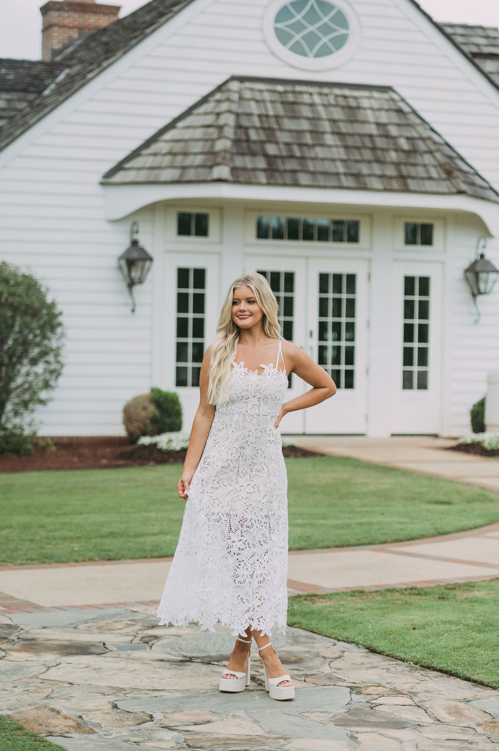
[[[430,277],[404,276],[402,388],[428,389]]]

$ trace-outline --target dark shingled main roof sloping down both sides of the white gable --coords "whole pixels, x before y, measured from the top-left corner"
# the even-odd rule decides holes
[[[0,128],[0,150],[29,130],[32,125],[35,125],[45,115],[56,109],[59,104],[62,104],[68,97],[98,76],[113,62],[119,60],[128,50],[143,41],[149,34],[159,29],[188,5],[191,5],[192,2],[194,0],[150,0],[146,5],[137,8],[128,16],[79,39],[71,44],[71,47],[59,53],[56,62],[63,67],[57,69],[59,72],[53,76],[47,88],[35,98],[25,98],[26,107],[18,110],[17,113],[11,110],[11,118],[5,122],[3,128]],[[453,32],[446,29],[446,27],[454,26],[453,24],[438,24],[423,11],[416,0],[408,0],[408,2],[416,6],[418,11],[466,56],[470,64],[474,65],[499,89],[499,82],[484,71],[467,49],[458,44]],[[15,63],[17,61],[10,60],[9,62]],[[1,98],[3,98],[3,94],[0,88]]]

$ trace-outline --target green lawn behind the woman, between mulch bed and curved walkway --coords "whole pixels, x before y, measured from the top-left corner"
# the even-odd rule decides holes
[[[0,475],[0,562],[173,555],[179,465]],[[499,520],[499,493],[342,457],[287,460],[290,548],[401,541]]]

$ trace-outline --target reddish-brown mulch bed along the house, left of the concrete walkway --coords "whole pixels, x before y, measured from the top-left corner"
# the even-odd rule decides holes
[[[288,446],[283,448],[284,457],[319,457],[315,451]],[[137,467],[155,464],[182,464],[183,451],[159,451],[152,446],[116,445],[111,443],[65,444],[56,446],[53,453],[37,447],[31,457],[14,454],[0,457],[2,472],[35,472],[44,469],[107,469],[109,467]]]

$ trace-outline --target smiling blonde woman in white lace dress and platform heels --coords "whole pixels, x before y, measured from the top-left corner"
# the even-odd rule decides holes
[[[332,397],[336,387],[308,354],[281,340],[277,317],[264,276],[245,274],[230,285],[201,367],[200,406],[177,486],[188,502],[158,617],[233,629],[221,691],[249,685],[254,639],[266,690],[287,699],[293,682],[269,641],[275,623],[286,632],[287,617],[287,476],[278,427],[287,412]],[[285,402],[290,372],[312,388]]]

